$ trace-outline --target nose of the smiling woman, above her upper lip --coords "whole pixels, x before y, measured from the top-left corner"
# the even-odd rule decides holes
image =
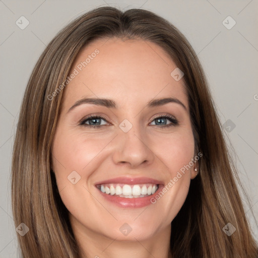
[[[133,126],[130,131],[124,133],[120,131],[116,137],[113,161],[115,164],[129,164],[131,168],[136,168],[141,164],[151,164],[155,158],[150,139]]]

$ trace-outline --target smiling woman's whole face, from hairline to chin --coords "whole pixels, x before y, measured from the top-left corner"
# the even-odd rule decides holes
[[[77,56],[52,169],[81,236],[140,241],[170,232],[196,175],[187,95],[175,69],[161,47],[140,39],[94,41]]]

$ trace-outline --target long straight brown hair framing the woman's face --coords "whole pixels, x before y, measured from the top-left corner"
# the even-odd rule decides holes
[[[81,257],[68,210],[50,173],[51,144],[64,87],[78,52],[99,38],[141,38],[162,47],[183,71],[200,173],[171,223],[170,255],[177,258],[257,257],[222,127],[195,51],[168,21],[152,12],[94,9],[62,29],[41,54],[23,98],[12,160],[12,208],[24,257]],[[53,94],[57,92],[58,94]],[[240,183],[240,182],[239,182]],[[236,231],[228,236],[223,227]]]

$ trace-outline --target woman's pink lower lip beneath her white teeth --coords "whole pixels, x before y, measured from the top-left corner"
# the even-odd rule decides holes
[[[157,192],[160,191],[163,188],[163,185],[159,185],[157,191],[153,193],[153,195],[146,196],[146,197],[139,197],[139,198],[122,198],[118,196],[111,196],[107,195],[106,193],[103,193],[98,189],[100,194],[109,202],[115,204],[118,207],[121,208],[142,208],[146,207],[151,203],[151,199],[154,198],[157,195]]]

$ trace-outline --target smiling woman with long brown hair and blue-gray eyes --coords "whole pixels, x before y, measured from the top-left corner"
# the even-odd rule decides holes
[[[103,7],[61,30],[18,128],[24,257],[257,257],[203,69],[163,18]]]

